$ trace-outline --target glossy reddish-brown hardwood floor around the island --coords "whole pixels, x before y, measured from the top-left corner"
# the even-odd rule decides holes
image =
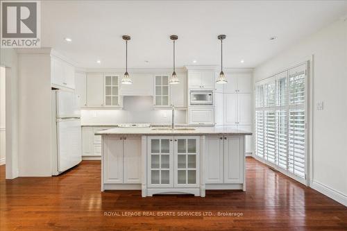
[[[246,192],[207,191],[205,198],[101,192],[100,168],[99,162],[83,161],[58,177],[5,180],[0,166],[0,230],[347,230],[347,207],[250,157]]]

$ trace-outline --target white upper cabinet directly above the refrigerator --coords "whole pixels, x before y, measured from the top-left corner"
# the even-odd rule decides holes
[[[75,68],[60,58],[51,58],[51,83],[53,87],[75,88]]]

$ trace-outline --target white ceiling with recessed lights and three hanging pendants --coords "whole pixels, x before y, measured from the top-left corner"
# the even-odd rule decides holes
[[[78,67],[121,68],[126,34],[128,67],[171,67],[176,34],[177,67],[219,65],[226,34],[224,66],[256,67],[346,13],[347,1],[42,1],[42,46]]]

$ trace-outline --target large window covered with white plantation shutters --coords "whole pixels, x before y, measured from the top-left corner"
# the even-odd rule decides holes
[[[255,154],[305,182],[307,139],[306,65],[255,87]]]

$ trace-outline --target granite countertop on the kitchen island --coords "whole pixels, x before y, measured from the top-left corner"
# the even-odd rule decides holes
[[[96,132],[95,135],[252,135],[252,132],[246,132],[244,130],[238,130],[227,126],[218,127],[185,127],[183,129],[194,130],[179,130],[182,127],[178,127],[177,130],[160,130],[163,128],[111,128]],[[159,129],[159,130],[158,130]],[[165,128],[164,128],[165,129]]]

